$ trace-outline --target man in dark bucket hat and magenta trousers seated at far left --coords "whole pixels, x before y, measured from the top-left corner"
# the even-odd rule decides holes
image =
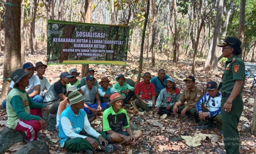
[[[37,139],[38,131],[45,129],[47,124],[42,119],[42,114],[48,109],[44,104],[33,102],[29,97],[26,87],[29,86],[30,73],[18,68],[11,73],[13,88],[7,96],[6,112],[9,128],[18,131],[26,131],[25,142]],[[41,136],[41,135],[40,135]]]

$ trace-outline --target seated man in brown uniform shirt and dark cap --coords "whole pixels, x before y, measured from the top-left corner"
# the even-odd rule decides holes
[[[173,113],[175,117],[178,117],[177,112],[184,121],[189,121],[187,115],[191,114],[195,117],[195,122],[199,123],[200,118],[196,118],[196,104],[203,95],[202,90],[195,86],[196,80],[193,76],[187,76],[183,81],[186,82],[186,88],[182,92],[179,101],[173,106]],[[187,104],[185,104],[185,102],[187,102]]]

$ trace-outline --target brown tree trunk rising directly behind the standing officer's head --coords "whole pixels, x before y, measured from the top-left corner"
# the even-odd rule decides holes
[[[241,44],[241,54],[240,58],[243,56],[244,47],[244,33],[245,33],[245,3],[246,0],[240,0],[240,13],[239,13],[239,29],[238,29],[238,39],[242,42]]]

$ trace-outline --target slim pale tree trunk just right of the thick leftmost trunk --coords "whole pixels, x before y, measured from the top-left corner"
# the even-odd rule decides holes
[[[24,44],[24,0],[21,2],[21,17],[20,17],[20,52],[21,52],[21,64],[26,62],[26,52],[25,52],[25,44]]]

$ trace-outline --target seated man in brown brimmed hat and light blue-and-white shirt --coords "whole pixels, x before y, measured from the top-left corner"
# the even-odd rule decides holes
[[[116,93],[118,91],[114,90],[113,88],[108,87],[109,86],[109,80],[107,77],[101,78],[101,81],[99,82],[101,84],[101,87],[98,88],[99,92],[99,98],[101,102],[110,102],[110,96],[113,93]]]

